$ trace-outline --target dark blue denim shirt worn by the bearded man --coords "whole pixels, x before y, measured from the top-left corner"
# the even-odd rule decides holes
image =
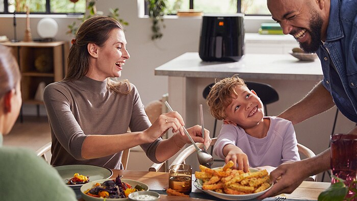
[[[316,52],[322,84],[341,113],[357,122],[357,0],[330,2],[326,41]]]

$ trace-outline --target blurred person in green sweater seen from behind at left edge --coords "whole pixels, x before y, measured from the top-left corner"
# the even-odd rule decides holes
[[[19,67],[9,48],[0,45],[0,200],[77,200],[56,169],[34,152],[3,146],[21,103]]]

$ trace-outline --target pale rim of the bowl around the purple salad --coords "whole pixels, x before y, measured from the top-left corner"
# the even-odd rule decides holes
[[[106,179],[106,180],[97,180],[97,181],[93,181],[93,182],[89,182],[89,183],[87,183],[87,184],[84,184],[82,187],[81,187],[81,194],[82,194],[82,197],[83,197],[83,199],[84,200],[86,200],[86,201],[104,201],[104,200],[106,200],[106,201],[125,201],[125,200],[129,200],[129,198],[116,198],[116,199],[111,199],[111,198],[101,198],[101,197],[93,197],[93,196],[90,196],[90,195],[87,195],[87,194],[85,194],[84,193],[84,191],[86,191],[86,190],[88,190],[88,189],[91,189],[91,188],[93,188],[94,187],[94,185],[96,184],[96,183],[103,183],[103,182],[105,182],[105,181],[108,181],[108,180],[113,180],[113,179]],[[145,189],[145,191],[148,191],[149,190],[149,187],[146,185],[146,184],[144,184],[144,183],[142,183],[142,182],[139,182],[139,181],[135,181],[135,180],[129,180],[129,179],[121,179],[121,182],[125,182],[125,183],[128,183],[128,184],[130,184],[133,188],[136,186],[136,185],[141,185],[144,189]]]

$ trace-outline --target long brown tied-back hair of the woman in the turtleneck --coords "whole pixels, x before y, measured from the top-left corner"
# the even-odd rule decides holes
[[[67,60],[67,74],[63,81],[78,80],[85,76],[89,69],[88,43],[103,46],[114,29],[122,30],[122,25],[111,17],[95,16],[83,22],[75,35],[75,39],[72,40]],[[119,90],[119,88],[122,88],[119,86],[122,85],[126,86],[124,87],[127,89],[126,91]],[[108,78],[107,87],[120,94],[131,92],[131,85],[127,80],[115,82]]]

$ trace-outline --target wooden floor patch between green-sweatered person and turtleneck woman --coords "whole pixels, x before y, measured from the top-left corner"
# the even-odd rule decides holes
[[[51,141],[47,117],[24,116],[23,122],[16,121],[8,135],[4,136],[4,146],[21,146],[36,150]]]

